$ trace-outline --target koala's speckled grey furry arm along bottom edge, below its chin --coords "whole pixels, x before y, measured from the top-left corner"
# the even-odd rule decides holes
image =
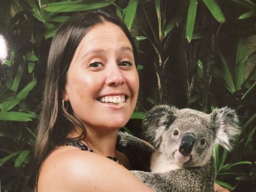
[[[177,169],[168,173],[132,173],[156,192],[214,192],[215,170],[212,161],[200,168]]]

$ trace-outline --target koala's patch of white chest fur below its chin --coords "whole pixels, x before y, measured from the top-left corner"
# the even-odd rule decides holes
[[[182,169],[182,167],[172,163],[159,150],[156,150],[151,156],[150,169],[151,173],[166,173],[171,170]]]

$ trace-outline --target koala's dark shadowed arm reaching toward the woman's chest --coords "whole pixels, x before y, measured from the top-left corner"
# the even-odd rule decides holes
[[[116,149],[129,159],[132,170],[150,171],[150,159],[155,148],[126,132],[119,132]]]

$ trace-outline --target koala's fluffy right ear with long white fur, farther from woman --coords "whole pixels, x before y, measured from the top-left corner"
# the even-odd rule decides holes
[[[234,140],[235,136],[240,133],[239,120],[235,110],[229,107],[214,109],[210,117],[214,125],[215,143],[231,150],[230,141]]]

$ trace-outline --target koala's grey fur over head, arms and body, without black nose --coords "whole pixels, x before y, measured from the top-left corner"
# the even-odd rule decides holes
[[[156,150],[145,141],[125,133],[119,134],[117,149],[129,158],[132,173],[157,192],[213,192],[213,147],[220,144],[232,149],[231,142],[239,133],[238,117],[228,107],[205,114],[192,109],[179,110],[173,106],[158,105],[147,112],[143,127],[146,138]],[[174,135],[175,130],[179,132],[178,135]],[[180,158],[175,159],[175,154],[180,151],[186,134],[192,134],[195,142],[185,155],[185,158],[189,156],[189,160],[179,164]],[[202,139],[205,142],[201,142]],[[178,164],[178,168],[166,168],[167,172],[163,173],[149,172],[150,164],[151,168],[154,164],[150,162],[150,157],[154,154],[158,154],[157,158],[161,160],[170,161],[170,164]]]

